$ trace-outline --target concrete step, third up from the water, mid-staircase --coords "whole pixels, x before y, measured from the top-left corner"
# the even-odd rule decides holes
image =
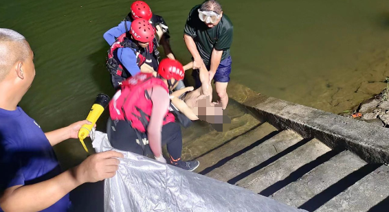
[[[254,167],[256,172],[238,180],[236,185],[263,196],[271,196],[336,154],[317,139],[303,139],[293,146],[298,148],[290,148],[291,152],[266,167]]]

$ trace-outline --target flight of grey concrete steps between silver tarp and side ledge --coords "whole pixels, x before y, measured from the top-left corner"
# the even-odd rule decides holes
[[[307,211],[369,211],[389,202],[386,165],[368,164],[348,150],[331,150],[269,123],[198,160],[199,174]]]

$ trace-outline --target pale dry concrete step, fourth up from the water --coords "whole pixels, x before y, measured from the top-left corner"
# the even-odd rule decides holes
[[[357,155],[349,151],[341,152],[326,163],[315,167],[296,182],[280,189],[271,197],[293,207],[300,207],[364,165],[366,162]],[[326,198],[331,198],[331,196],[327,195]]]

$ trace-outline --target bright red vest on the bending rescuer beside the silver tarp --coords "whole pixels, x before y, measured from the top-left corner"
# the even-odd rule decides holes
[[[151,110],[153,110],[153,102],[148,96],[147,89],[155,86],[161,86],[166,90],[166,93],[169,93],[165,82],[155,78],[153,73],[138,73],[123,81],[122,89],[115,93],[111,102],[109,102],[111,119],[113,121],[129,121],[134,129],[146,132]],[[175,116],[167,110],[163,124],[174,121]]]

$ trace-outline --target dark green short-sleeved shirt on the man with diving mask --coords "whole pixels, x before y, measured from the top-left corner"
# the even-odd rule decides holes
[[[188,19],[186,20],[184,34],[193,38],[201,58],[208,65],[213,48],[218,51],[223,50],[221,60],[230,56],[234,27],[230,19],[223,14],[221,21],[215,27],[209,28],[199,19],[199,12],[197,10],[200,7],[201,5],[197,5],[190,10]]]

